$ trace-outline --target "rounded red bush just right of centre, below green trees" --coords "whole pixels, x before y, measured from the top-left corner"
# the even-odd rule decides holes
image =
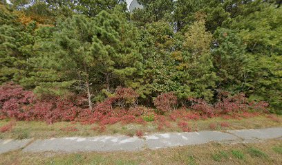
[[[161,113],[172,111],[177,104],[177,97],[172,92],[161,94],[153,100],[153,104]]]

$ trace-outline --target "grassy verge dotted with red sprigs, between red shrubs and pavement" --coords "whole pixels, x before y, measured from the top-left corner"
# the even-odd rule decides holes
[[[167,117],[168,118],[168,117]],[[261,129],[281,126],[282,117],[276,116],[272,120],[268,115],[257,115],[250,118],[229,118],[222,117],[187,120],[187,127],[181,122],[167,119],[167,125],[160,126],[158,121],[138,123],[106,124],[82,124],[81,122],[55,122],[47,124],[41,121],[0,121],[0,139],[24,139],[35,138],[44,139],[52,137],[71,137],[71,136],[98,136],[98,135],[128,135],[138,136],[150,133],[182,132],[182,131],[225,131],[230,129]],[[278,121],[277,121],[278,120]],[[181,120],[179,120],[181,121]],[[223,125],[223,126],[222,126]],[[188,128],[186,130],[185,128]],[[184,130],[183,130],[184,129]],[[279,152],[279,148],[276,149]]]

